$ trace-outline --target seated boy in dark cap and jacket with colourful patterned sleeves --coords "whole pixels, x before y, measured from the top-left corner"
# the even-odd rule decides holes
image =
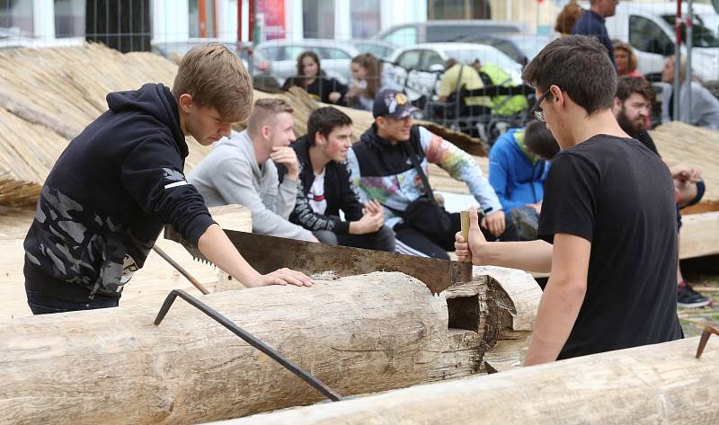
[[[360,198],[382,205],[387,226],[395,230],[397,252],[447,259],[453,249],[459,213],[449,214],[436,202],[426,182],[430,163],[466,183],[484,210],[482,226],[488,238],[516,239],[514,226],[507,223],[502,204],[472,156],[413,126],[413,111],[404,93],[379,93],[372,111],[375,122],[349,155]]]

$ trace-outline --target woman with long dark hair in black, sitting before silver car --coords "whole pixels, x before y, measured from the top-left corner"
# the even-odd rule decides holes
[[[285,80],[282,90],[296,85],[302,87],[315,100],[324,103],[342,103],[347,86],[335,78],[324,75],[320,67],[320,58],[313,51],[302,52],[297,57],[297,75]]]

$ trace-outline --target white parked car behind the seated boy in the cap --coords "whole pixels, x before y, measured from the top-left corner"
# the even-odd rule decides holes
[[[483,64],[492,63],[509,73],[515,83],[521,84],[522,66],[499,49],[484,44],[423,43],[398,49],[390,62],[394,64],[397,83],[404,85],[407,95],[414,100],[434,93],[448,58],[455,58],[465,65],[472,64],[475,59]]]

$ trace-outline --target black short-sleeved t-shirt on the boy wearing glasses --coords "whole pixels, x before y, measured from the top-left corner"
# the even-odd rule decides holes
[[[591,243],[587,293],[557,359],[678,340],[674,185],[633,138],[590,137],[555,156],[537,234]]]

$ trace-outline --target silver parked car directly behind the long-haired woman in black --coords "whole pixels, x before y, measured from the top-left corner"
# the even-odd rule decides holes
[[[271,40],[258,44],[255,52],[262,54],[272,63],[272,74],[281,84],[297,74],[297,57],[306,50],[312,50],[320,58],[321,67],[328,77],[337,78],[342,84],[350,81],[350,63],[359,55],[359,50],[350,43],[335,40],[305,39],[299,41]]]

